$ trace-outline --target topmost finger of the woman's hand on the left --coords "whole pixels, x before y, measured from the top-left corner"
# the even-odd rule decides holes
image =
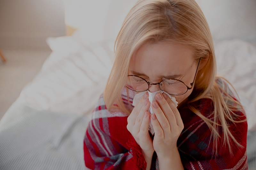
[[[127,122],[131,125],[135,124],[136,118],[140,113],[141,108],[145,104],[145,101],[148,99],[148,92],[144,94],[144,96],[140,99],[140,102],[136,104],[136,106],[133,108],[131,114],[127,118]]]

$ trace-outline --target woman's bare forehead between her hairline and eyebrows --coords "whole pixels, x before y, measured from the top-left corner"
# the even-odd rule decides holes
[[[129,69],[138,73],[180,74],[195,63],[191,47],[170,42],[145,43],[132,55]]]

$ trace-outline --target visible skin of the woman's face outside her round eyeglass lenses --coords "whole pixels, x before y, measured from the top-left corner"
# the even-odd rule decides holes
[[[183,81],[188,87],[193,82],[197,64],[193,59],[193,49],[170,42],[145,43],[132,56],[129,74],[138,75],[151,83],[167,78]],[[150,92],[160,90],[159,85],[150,85]],[[188,98],[187,93],[175,96],[179,105]]]

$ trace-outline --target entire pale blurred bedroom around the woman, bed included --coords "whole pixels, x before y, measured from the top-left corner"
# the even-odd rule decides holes
[[[1,170],[84,170],[85,129],[136,1],[0,0]],[[256,0],[196,2],[212,32],[217,73],[244,105],[255,170]]]

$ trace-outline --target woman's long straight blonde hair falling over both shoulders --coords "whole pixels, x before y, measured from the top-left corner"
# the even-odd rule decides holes
[[[189,103],[202,98],[210,98],[214,103],[214,120],[204,117],[199,110],[189,106],[201,117],[212,130],[213,141],[217,151],[219,138],[218,126],[222,126],[224,143],[231,150],[230,138],[240,145],[228,129],[226,119],[232,118],[235,109],[241,109],[240,103],[226,94],[229,100],[237,103],[237,107],[225,103],[222,94],[225,91],[215,82],[216,61],[210,28],[203,12],[194,0],[139,0],[124,19],[115,42],[115,62],[111,70],[104,101],[108,110],[118,106],[118,110],[130,114],[122,102],[121,92],[128,75],[129,63],[133,53],[146,42],[175,42],[190,46],[195,50],[194,59],[198,62],[207,60],[205,66],[196,75],[194,90],[197,95]],[[116,104],[114,104],[116,103]],[[113,105],[114,104],[114,105]]]

